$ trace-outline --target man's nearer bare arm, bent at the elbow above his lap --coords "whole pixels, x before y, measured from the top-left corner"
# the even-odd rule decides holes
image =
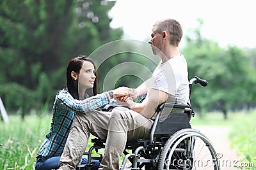
[[[131,110],[136,111],[143,115],[145,118],[151,118],[157,106],[164,103],[168,98],[168,94],[161,90],[150,89],[148,96],[142,103],[135,103],[131,100],[127,101],[124,105],[127,105]]]

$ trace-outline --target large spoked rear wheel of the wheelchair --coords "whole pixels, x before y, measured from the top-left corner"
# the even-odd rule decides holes
[[[220,162],[211,141],[195,129],[175,132],[160,153],[158,169],[215,169]]]

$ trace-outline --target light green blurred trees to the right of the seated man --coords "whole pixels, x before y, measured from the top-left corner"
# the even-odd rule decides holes
[[[199,28],[186,37],[183,52],[188,59],[189,76],[205,78],[209,85],[205,89],[195,90],[191,99],[199,110],[221,110],[227,118],[228,110],[241,109],[244,104],[255,104],[255,90],[250,87],[255,83],[252,74],[256,69],[248,51],[237,46],[225,49],[214,41],[202,38],[200,28],[203,22],[199,21]]]

